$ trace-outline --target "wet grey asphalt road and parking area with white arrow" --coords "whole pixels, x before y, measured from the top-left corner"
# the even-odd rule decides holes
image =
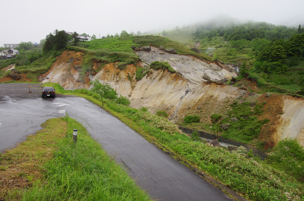
[[[26,136],[35,134],[41,129],[40,124],[59,117],[59,109],[65,109],[117,162],[126,167],[130,176],[152,199],[233,200],[84,98],[63,95],[41,98],[41,89],[31,87],[30,90],[32,93],[29,93],[28,84],[0,83],[0,150],[14,147]]]

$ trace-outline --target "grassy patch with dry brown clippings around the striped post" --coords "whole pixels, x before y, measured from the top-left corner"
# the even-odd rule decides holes
[[[77,121],[54,118],[42,127],[0,154],[1,200],[150,200]]]

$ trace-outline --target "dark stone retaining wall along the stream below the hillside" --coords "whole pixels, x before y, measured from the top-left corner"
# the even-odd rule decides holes
[[[186,134],[192,134],[193,131],[196,131],[196,130],[193,130],[191,128],[184,128],[184,127],[181,127],[179,126],[179,129],[183,132],[183,133],[186,133]],[[199,137],[201,138],[208,138],[210,141],[211,140],[214,140],[214,135],[211,134],[211,133],[207,133],[207,132],[204,132],[204,131],[197,131],[198,134],[199,134]],[[224,142],[226,144],[230,144],[230,145],[234,145],[234,146],[243,146],[247,149],[247,152],[249,152],[250,149],[252,149],[252,152],[254,154],[255,157],[261,157],[261,160],[264,160],[264,159],[267,159],[268,158],[268,155],[265,153],[265,152],[262,152],[261,150],[255,148],[255,147],[252,147],[252,146],[249,146],[249,145],[246,145],[244,143],[241,143],[241,142],[238,142],[238,141],[235,141],[235,140],[231,140],[231,139],[226,139],[226,138],[223,138],[223,137],[219,137],[218,138],[218,141],[219,142]]]

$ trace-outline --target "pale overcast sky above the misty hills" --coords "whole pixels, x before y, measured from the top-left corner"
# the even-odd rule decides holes
[[[1,2],[0,46],[39,43],[55,29],[97,38],[126,30],[170,30],[218,16],[304,27],[303,0],[15,0]]]

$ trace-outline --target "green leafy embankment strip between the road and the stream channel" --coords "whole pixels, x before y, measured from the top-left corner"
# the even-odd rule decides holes
[[[100,105],[94,93],[81,89],[61,93],[77,94]],[[192,141],[176,125],[144,110],[114,104],[105,100],[104,109],[118,117],[130,128],[140,133],[172,157],[190,168],[197,168],[216,178],[224,185],[250,200],[304,199],[304,186],[295,178],[278,171],[264,162],[232,154],[223,148],[213,148]]]

